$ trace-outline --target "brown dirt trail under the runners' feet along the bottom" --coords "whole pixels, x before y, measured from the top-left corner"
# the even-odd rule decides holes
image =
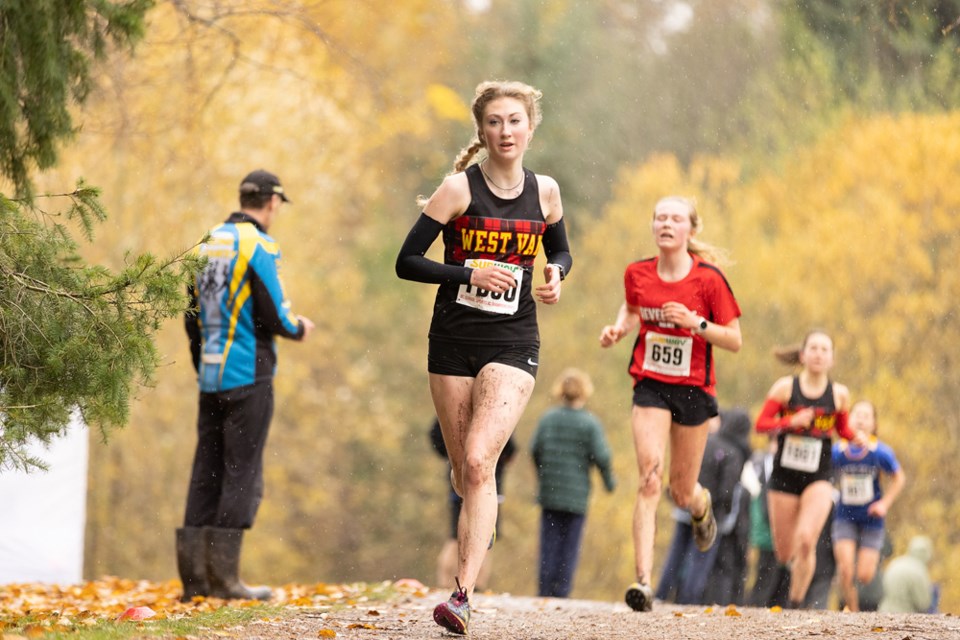
[[[433,622],[433,607],[449,596],[402,595],[329,610],[303,609],[237,631],[243,640],[455,638]],[[751,607],[659,605],[649,613],[623,603],[476,594],[471,640],[960,640],[960,618],[950,614],[773,611]],[[222,635],[222,634],[220,634]],[[233,635],[233,634],[231,634]]]

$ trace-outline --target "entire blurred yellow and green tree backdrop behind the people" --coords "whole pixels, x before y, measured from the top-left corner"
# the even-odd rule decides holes
[[[530,82],[545,113],[530,167],[560,182],[576,264],[561,303],[541,309],[540,383],[494,551],[511,570],[495,565],[491,586],[534,592],[526,448],[550,383],[574,363],[594,377],[622,481],[595,492],[574,595],[619,600],[633,577],[629,348],[597,337],[623,269],[654,251],[653,203],[682,193],[697,198],[705,239],[730,250],[744,310],[743,350],[717,355],[721,404],[755,413],[789,373],[771,350],[830,331],[836,378],[877,403],[910,479],[890,517],[895,547],[920,528],[933,536],[943,607],[956,610],[960,8],[873,4],[161,1],[136,56],[95,77],[75,143],[37,181],[103,185],[110,225],[84,256],[109,264],[181,251],[236,207],[247,171],[280,175],[295,204],[271,231],[295,307],[319,323],[309,349],[280,345],[245,567],[275,584],[430,582],[447,526],[445,467],[427,439],[433,288],[399,281],[393,261],[416,195],[472,137],[476,84]],[[180,323],[157,345],[162,365],[129,428],[92,450],[91,576],[175,575],[196,388]]]

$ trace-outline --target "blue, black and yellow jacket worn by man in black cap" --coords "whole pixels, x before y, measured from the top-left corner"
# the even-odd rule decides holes
[[[276,336],[303,337],[280,280],[280,248],[260,224],[233,213],[198,247],[206,268],[189,288],[185,324],[200,391],[215,393],[269,380]]]

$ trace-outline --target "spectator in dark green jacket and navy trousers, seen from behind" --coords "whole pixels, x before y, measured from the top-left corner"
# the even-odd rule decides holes
[[[580,541],[590,497],[590,469],[596,466],[607,491],[616,479],[603,426],[584,409],[593,393],[590,377],[567,369],[553,386],[560,406],[549,409],[530,445],[540,484],[541,596],[566,598],[580,557]]]

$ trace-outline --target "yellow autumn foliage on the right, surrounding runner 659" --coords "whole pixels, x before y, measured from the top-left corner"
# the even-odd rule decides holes
[[[591,557],[604,558],[629,530],[625,503],[635,486],[629,346],[599,353],[596,337],[620,303],[623,267],[654,251],[653,203],[680,193],[697,199],[703,239],[730,250],[725,273],[743,308],[742,351],[715,352],[721,404],[756,414],[769,385],[789,373],[772,349],[826,328],[836,342],[835,379],[855,399],[876,403],[881,437],[909,478],[889,517],[895,551],[916,533],[933,536],[934,578],[943,584],[945,610],[957,606],[960,594],[949,576],[960,566],[953,544],[960,506],[949,487],[960,481],[953,464],[960,454],[960,338],[953,327],[960,304],[953,268],[960,252],[958,171],[960,113],[950,113],[850,119],[798,152],[782,172],[749,181],[730,162],[698,160],[683,168],[669,156],[621,174],[613,201],[576,245],[579,269],[564,296],[578,301],[579,312],[545,330],[551,360],[577,362],[599,382],[591,405],[608,425],[621,453],[618,471],[628,479],[616,507],[597,499],[607,520],[588,533],[587,548],[597,545]],[[546,367],[543,373],[549,375]],[[661,549],[666,529],[659,532]],[[622,547],[614,556],[621,582],[630,579],[623,568],[628,556]],[[597,560],[582,566],[603,567],[592,580],[613,570]]]

